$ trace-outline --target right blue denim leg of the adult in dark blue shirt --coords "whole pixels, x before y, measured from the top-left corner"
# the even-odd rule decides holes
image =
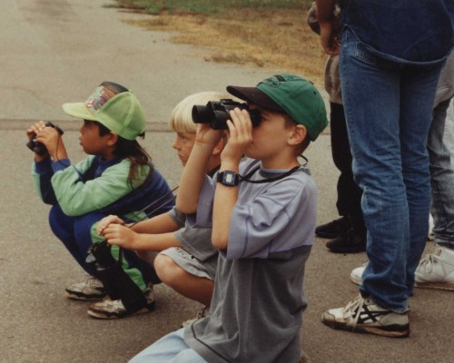
[[[400,81],[400,144],[402,173],[407,191],[410,246],[407,257],[407,287],[414,288],[415,270],[429,231],[430,173],[427,142],[439,66],[406,66]]]

